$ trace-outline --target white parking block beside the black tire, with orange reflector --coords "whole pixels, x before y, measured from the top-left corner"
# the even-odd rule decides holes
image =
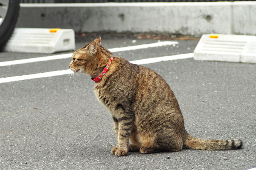
[[[15,28],[4,51],[26,53],[55,53],[75,49],[73,29]]]

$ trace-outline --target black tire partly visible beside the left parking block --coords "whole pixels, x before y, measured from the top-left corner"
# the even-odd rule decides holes
[[[20,10],[20,0],[9,0],[9,6],[6,16],[0,23],[0,50],[3,49],[5,43],[12,35],[12,31],[17,23],[17,18]]]

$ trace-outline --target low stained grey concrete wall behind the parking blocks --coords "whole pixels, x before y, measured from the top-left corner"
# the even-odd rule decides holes
[[[256,2],[21,4],[17,27],[255,35],[254,16]]]

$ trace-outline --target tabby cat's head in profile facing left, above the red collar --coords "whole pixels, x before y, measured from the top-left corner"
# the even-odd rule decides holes
[[[96,38],[83,48],[79,48],[72,55],[70,62],[70,70],[77,73],[92,74],[93,70],[97,69],[99,63],[98,48],[101,43],[101,37]]]

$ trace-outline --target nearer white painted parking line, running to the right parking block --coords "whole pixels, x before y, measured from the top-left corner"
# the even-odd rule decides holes
[[[194,56],[193,53],[179,54],[179,55],[173,55],[173,56],[139,59],[139,60],[131,61],[131,63],[149,64],[149,63],[161,62],[161,61],[192,58],[193,56]],[[61,76],[61,75],[72,74],[72,73],[73,72],[70,69],[67,69],[67,70],[50,71],[50,72],[38,73],[38,74],[29,74],[29,75],[23,75],[23,76],[5,77],[5,78],[0,78],[0,83],[15,82],[15,81],[26,80],[26,79],[37,79],[37,78],[43,78],[43,77]]]

